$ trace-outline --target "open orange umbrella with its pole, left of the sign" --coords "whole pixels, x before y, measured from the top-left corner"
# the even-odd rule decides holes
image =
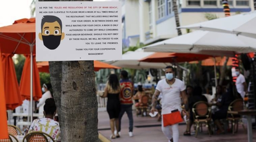
[[[9,54],[29,54],[30,55],[30,79],[29,81],[24,81],[30,84],[30,121],[32,123],[33,118],[33,106],[32,106],[32,96],[33,96],[33,54],[35,53],[35,18],[31,19],[20,19],[16,20],[12,25],[0,27],[0,48],[3,53]],[[29,71],[29,70],[27,70]],[[34,75],[39,75],[35,72]],[[40,84],[37,83],[37,84]],[[25,85],[29,87],[28,84]],[[41,91],[39,92],[41,94]]]

